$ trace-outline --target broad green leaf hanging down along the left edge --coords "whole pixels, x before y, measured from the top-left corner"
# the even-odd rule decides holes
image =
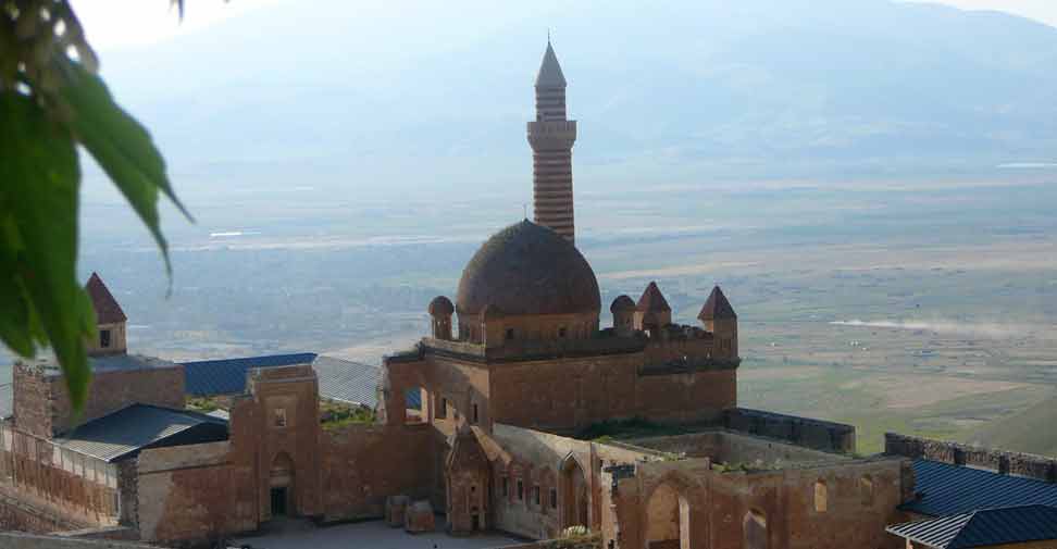
[[[76,273],[76,148],[27,97],[0,92],[0,284],[8,286],[0,305],[12,315],[0,322],[0,335],[24,355],[36,351],[35,342],[50,342],[79,410],[89,377],[85,338],[95,333],[95,316],[87,314],[89,298]]]

